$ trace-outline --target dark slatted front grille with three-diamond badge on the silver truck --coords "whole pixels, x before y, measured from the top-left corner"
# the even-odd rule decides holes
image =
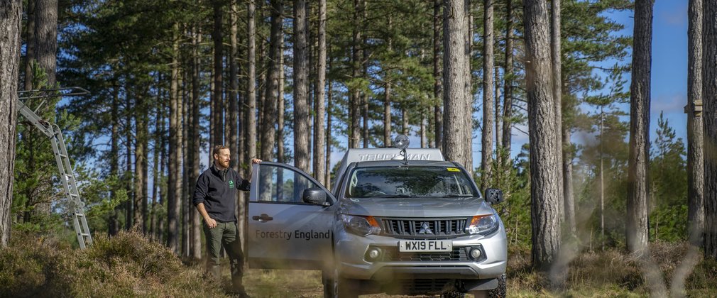
[[[385,236],[410,239],[455,238],[465,235],[467,218],[382,218]]]

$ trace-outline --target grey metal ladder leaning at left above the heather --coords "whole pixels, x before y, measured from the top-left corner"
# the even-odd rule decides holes
[[[80,87],[68,87],[68,88],[56,88],[50,90],[31,90],[18,92],[22,95],[24,92],[60,92],[63,90],[79,90],[78,92],[70,92],[62,94],[62,96],[70,95],[85,95],[89,92]],[[50,143],[52,143],[52,152],[54,152],[54,160],[57,161],[57,169],[60,170],[60,181],[62,181],[62,189],[65,190],[65,198],[70,206],[70,216],[72,217],[72,223],[75,226],[75,234],[77,234],[77,242],[80,243],[80,249],[85,249],[88,245],[92,244],[92,235],[90,235],[90,227],[87,226],[87,218],[85,216],[85,203],[80,198],[80,191],[77,188],[77,181],[75,181],[75,171],[72,170],[72,164],[70,163],[70,156],[67,155],[67,147],[65,146],[65,138],[62,136],[62,130],[57,124],[49,123],[43,120],[37,115],[37,110],[33,111],[22,100],[30,98],[44,98],[44,97],[57,97],[57,94],[52,95],[37,95],[31,97],[20,97],[17,101],[17,107],[20,112],[27,120],[29,120],[37,129],[39,129],[44,135],[47,135]],[[40,104],[42,106],[42,104]]]

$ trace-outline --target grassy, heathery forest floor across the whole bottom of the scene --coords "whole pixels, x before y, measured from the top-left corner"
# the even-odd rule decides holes
[[[688,248],[653,243],[649,264],[620,249],[584,251],[566,260],[559,289],[531,269],[529,250],[511,249],[508,297],[717,297],[717,261],[703,260],[701,253],[683,275],[686,292],[670,290]],[[9,247],[0,249],[0,297],[229,297],[228,264],[222,283],[204,279],[202,268],[182,264],[165,246],[134,232],[97,237],[85,250],[48,236],[14,234]],[[663,294],[657,294],[660,284]],[[247,269],[244,285],[252,297],[323,296],[320,271]]]

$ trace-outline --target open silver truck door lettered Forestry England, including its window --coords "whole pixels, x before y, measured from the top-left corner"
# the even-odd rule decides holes
[[[247,211],[249,266],[325,269],[333,257],[336,198],[290,165],[257,163],[252,173]]]

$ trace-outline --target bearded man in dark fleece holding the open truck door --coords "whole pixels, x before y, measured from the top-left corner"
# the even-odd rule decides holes
[[[249,191],[252,173],[249,179],[239,176],[239,173],[229,168],[229,148],[224,145],[214,146],[212,151],[214,163],[201,173],[194,188],[194,206],[204,218],[204,236],[206,237],[207,271],[217,280],[221,280],[219,267],[219,251],[229,255],[229,266],[232,269],[232,292],[239,297],[248,297],[242,285],[242,270],[244,269],[244,254],[242,241],[239,239],[237,229],[237,189]],[[252,158],[252,165],[262,160]]]

